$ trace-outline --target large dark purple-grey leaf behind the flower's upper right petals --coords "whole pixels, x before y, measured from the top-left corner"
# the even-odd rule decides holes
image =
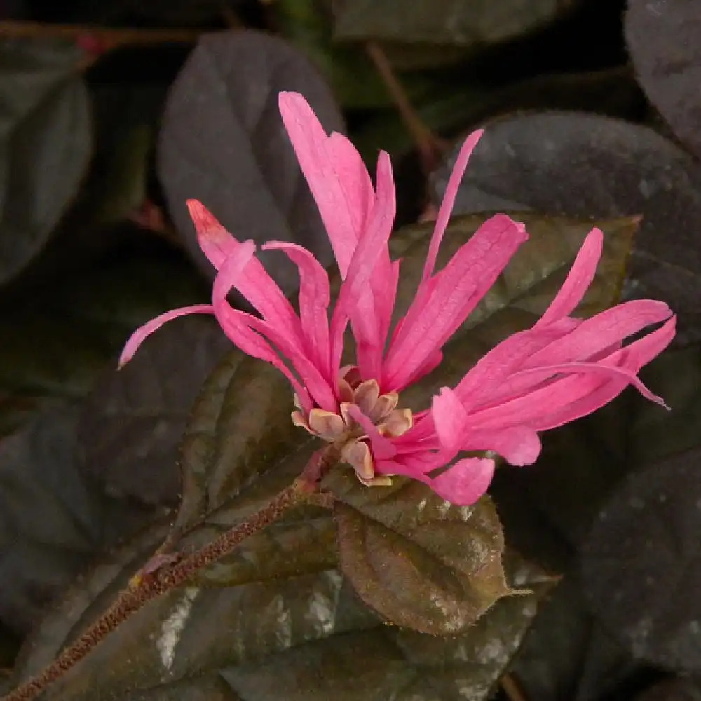
[[[433,177],[437,198],[447,176],[446,167]],[[592,114],[495,121],[477,144],[455,211],[529,208],[573,217],[641,214],[625,294],[667,301],[680,317],[676,343],[701,339],[701,170],[672,142]]]

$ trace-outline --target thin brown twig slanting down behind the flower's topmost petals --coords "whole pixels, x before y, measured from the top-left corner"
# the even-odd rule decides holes
[[[440,156],[447,150],[447,143],[438,138],[429,128],[423,123],[423,120],[418,116],[409,97],[402,87],[400,81],[390,65],[384,51],[374,41],[368,41],[365,45],[367,55],[369,55],[379,76],[385,83],[385,86],[390,93],[397,110],[407,128],[407,131],[414,139],[418,153],[421,156],[421,165],[424,172],[428,175],[435,170],[440,161]]]

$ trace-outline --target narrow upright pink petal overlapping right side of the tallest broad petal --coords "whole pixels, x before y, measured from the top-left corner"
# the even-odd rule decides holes
[[[376,308],[372,298],[367,297],[369,280],[374,273],[376,263],[381,255],[386,253],[387,241],[392,233],[392,225],[395,217],[395,189],[392,176],[392,163],[385,151],[380,151],[377,159],[376,198],[372,208],[367,229],[358,246],[353,252],[351,264],[348,266],[348,274],[341,284],[339,297],[331,320],[331,367],[335,372],[341,365],[341,352],[343,351],[343,334],[348,325],[348,320],[353,318],[355,310],[361,304],[362,313],[373,315],[367,320],[367,327],[361,329],[373,329],[377,327]],[[376,338],[372,331],[368,330],[367,338],[359,339],[361,343],[373,346]]]

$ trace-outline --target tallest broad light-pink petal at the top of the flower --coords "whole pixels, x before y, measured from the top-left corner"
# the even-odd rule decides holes
[[[336,137],[329,144],[322,124],[302,95],[280,93],[278,106],[344,278],[358,242],[356,227],[369,210],[369,176],[366,180],[362,174],[365,166],[350,142]]]

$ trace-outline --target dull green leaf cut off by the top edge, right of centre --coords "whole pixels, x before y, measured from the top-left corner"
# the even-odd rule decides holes
[[[577,0],[334,0],[338,39],[478,47],[532,32]]]

